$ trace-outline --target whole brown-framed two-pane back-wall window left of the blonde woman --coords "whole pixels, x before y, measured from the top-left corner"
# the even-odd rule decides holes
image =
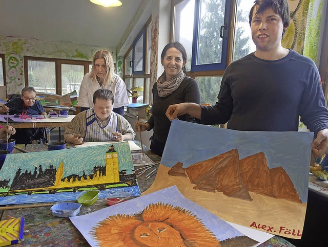
[[[25,84],[37,92],[65,95],[79,88],[90,61],[24,57]],[[91,64],[92,65],[92,64]]]

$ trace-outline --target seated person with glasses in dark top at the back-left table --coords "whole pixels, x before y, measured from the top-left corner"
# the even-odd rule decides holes
[[[24,87],[20,98],[10,100],[1,109],[9,115],[47,115],[45,109],[35,97],[34,87]],[[16,133],[11,138],[16,140],[16,144],[30,144],[33,140],[39,140],[43,137],[43,128],[24,128],[16,129]]]

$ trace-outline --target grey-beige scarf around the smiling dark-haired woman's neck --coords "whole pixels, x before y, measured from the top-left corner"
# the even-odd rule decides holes
[[[183,79],[185,79],[186,74],[182,70],[170,80],[166,80],[166,74],[163,72],[157,80],[157,90],[159,97],[167,97],[172,94],[179,87]]]

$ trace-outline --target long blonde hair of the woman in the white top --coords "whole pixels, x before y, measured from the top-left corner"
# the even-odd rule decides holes
[[[114,74],[114,61],[111,53],[107,50],[99,50],[94,54],[92,59],[92,69],[91,69],[90,78],[93,81],[97,80],[97,72],[94,63],[99,58],[104,58],[106,63],[106,76],[104,79],[104,86],[106,86],[107,84],[111,85],[111,83],[113,83],[112,81],[113,81],[113,74]]]

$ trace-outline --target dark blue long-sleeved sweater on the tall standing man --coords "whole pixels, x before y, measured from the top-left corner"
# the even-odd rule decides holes
[[[202,124],[229,129],[298,131],[298,120],[317,134],[328,128],[328,110],[315,63],[295,51],[275,61],[251,53],[224,72],[218,102],[201,106]]]

